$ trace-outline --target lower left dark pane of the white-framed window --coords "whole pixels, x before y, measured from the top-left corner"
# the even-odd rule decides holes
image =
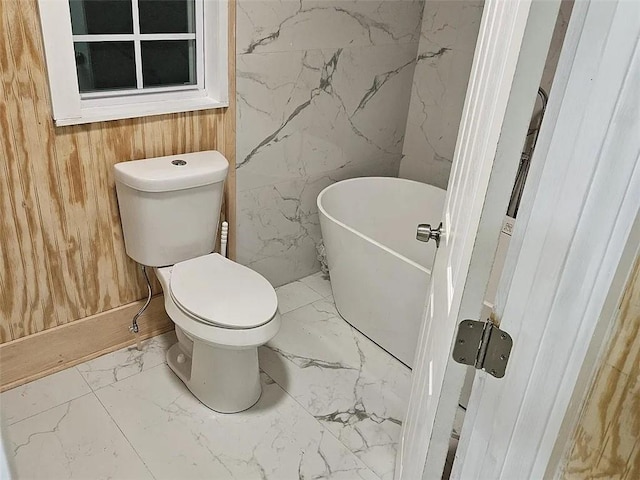
[[[133,42],[76,42],[80,92],[136,88]]]

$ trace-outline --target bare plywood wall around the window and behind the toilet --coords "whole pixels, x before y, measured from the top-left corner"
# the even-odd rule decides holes
[[[36,0],[0,0],[0,343],[146,295],[124,251],[114,163],[220,150],[233,254],[234,27],[228,109],[56,128]]]

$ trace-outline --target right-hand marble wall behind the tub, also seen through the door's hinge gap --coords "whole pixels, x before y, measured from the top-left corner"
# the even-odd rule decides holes
[[[482,0],[425,3],[400,164],[402,178],[447,188],[482,5]],[[572,8],[573,0],[562,1],[540,82],[547,93]],[[540,106],[538,101],[538,111]]]

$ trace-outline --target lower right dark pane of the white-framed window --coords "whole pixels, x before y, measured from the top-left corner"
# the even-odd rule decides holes
[[[145,87],[195,85],[195,40],[142,42]]]

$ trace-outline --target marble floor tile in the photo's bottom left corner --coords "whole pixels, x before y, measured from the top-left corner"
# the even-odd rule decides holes
[[[93,393],[8,427],[16,478],[152,479]]]

